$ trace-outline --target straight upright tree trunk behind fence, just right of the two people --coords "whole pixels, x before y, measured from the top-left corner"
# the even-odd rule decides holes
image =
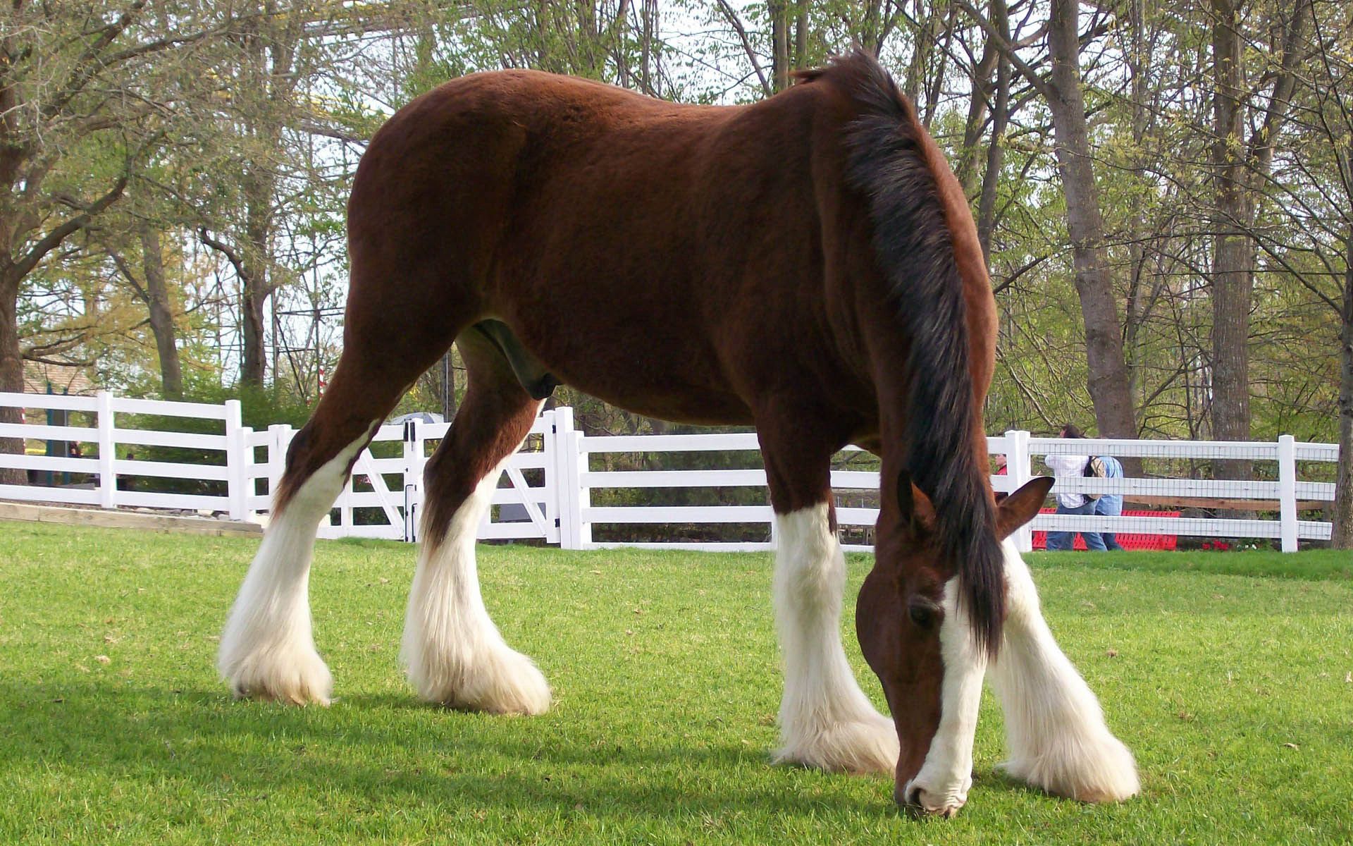
[[[1250,296],[1254,288],[1253,221],[1246,175],[1241,79],[1241,23],[1233,0],[1212,0],[1212,79],[1216,87],[1216,236],[1212,242],[1212,437],[1250,439]],[[1216,475],[1249,479],[1253,463],[1218,462]]]

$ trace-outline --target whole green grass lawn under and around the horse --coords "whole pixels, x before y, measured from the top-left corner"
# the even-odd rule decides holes
[[[337,701],[231,701],[216,635],[257,540],[0,522],[0,843],[1348,843],[1348,556],[1032,555],[1053,631],[1143,795],[1050,799],[994,772],[988,697],[954,820],[886,778],[770,766],[770,555],[482,547],[543,717],[418,703],[398,667],[413,548],[321,543]],[[869,559],[851,559],[851,593]],[[866,690],[878,684],[848,651]]]

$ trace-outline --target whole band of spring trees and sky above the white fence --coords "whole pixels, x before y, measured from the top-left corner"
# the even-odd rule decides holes
[[[859,45],[916,102],[974,207],[1001,314],[990,428],[1093,418],[1101,435],[1227,437],[1243,421],[1257,437],[1327,440],[1353,414],[1350,28],[1334,0],[254,0],[229,14],[123,0],[0,14],[0,276],[26,268],[22,292],[0,296],[16,328],[0,341],[18,351],[0,349],[0,372],[22,356],[97,361],[110,386],[308,401],[337,349],[352,172],[417,93],[529,66],[752,102]],[[438,371],[410,410],[455,405]],[[666,428],[567,388],[559,399],[587,430]]]

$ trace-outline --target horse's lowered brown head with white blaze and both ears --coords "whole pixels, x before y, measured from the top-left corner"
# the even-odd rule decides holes
[[[1053,481],[1034,479],[997,506],[1004,539],[1034,518]],[[902,475],[885,497],[874,569],[861,587],[855,632],[893,712],[901,753],[897,803],[950,816],[967,800],[971,742],[986,656],[958,601],[953,562],[934,543],[930,498]]]

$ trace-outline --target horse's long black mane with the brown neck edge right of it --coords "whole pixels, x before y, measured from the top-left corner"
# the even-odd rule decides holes
[[[1004,556],[980,460],[986,386],[969,368],[969,310],[951,229],[971,226],[971,213],[888,73],[859,53],[835,68],[848,74],[862,106],[848,130],[848,180],[869,198],[875,259],[911,347],[907,467],[935,506],[939,552],[959,577],[977,644],[994,655],[1005,617]],[[953,184],[946,192],[942,183]],[[970,241],[965,246],[977,249]]]

